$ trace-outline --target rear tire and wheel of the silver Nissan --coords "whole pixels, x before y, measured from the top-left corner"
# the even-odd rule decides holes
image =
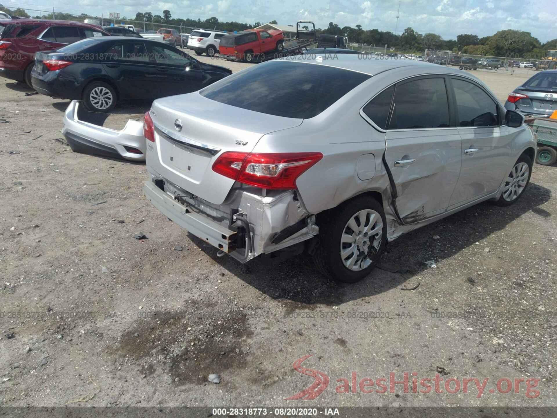
[[[319,215],[317,269],[330,279],[356,283],[371,273],[387,243],[387,221],[380,203],[360,196]]]

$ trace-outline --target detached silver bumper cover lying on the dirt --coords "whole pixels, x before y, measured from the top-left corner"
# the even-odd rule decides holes
[[[74,152],[145,161],[143,122],[128,120],[124,129],[104,128],[108,114],[91,112],[77,100],[67,107],[62,134]]]

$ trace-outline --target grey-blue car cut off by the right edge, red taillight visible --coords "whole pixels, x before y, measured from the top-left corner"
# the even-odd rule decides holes
[[[530,77],[509,94],[505,108],[524,115],[551,116],[557,110],[557,70]]]

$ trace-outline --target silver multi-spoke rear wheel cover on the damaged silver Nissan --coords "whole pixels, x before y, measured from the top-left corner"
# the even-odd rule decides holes
[[[350,217],[340,238],[344,266],[360,271],[372,264],[383,237],[383,220],[378,212],[364,209]]]

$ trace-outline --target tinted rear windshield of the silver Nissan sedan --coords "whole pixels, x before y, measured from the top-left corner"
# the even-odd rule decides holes
[[[325,65],[273,61],[223,79],[200,94],[237,108],[309,119],[370,77]]]

